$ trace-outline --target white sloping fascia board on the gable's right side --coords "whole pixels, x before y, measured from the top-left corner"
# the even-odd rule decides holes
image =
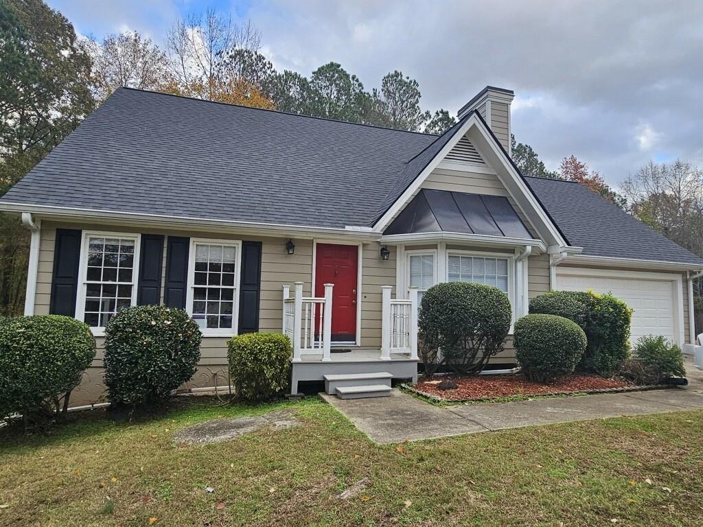
[[[498,145],[497,141],[494,140],[493,136],[491,136],[490,132],[479,119],[475,119],[475,124],[475,128],[470,131],[470,141],[477,150],[482,153],[484,159],[486,155],[492,155],[492,157],[494,157],[493,160],[486,160],[486,162],[491,165],[499,164],[501,168],[505,170],[508,178],[501,175],[501,171],[494,167],[498,174],[498,179],[501,180],[503,186],[505,186],[508,193],[510,193],[510,197],[517,202],[522,212],[524,212],[529,221],[536,228],[540,237],[547,241],[548,245],[559,245],[565,248],[569,247],[546,210],[543,209],[536,196],[527,186],[527,183],[525,183],[520,174],[517,173],[517,170],[512,166],[510,160],[506,158],[505,152],[503,152],[501,146]],[[486,149],[488,152],[486,152]]]

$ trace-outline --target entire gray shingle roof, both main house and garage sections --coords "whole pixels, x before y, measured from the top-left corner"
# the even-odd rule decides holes
[[[118,89],[0,204],[372,226],[463,122],[438,138]],[[703,264],[586,188],[526,181],[584,254]]]

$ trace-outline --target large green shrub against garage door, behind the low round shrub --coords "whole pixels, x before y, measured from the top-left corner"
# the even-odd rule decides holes
[[[632,310],[612,294],[553,291],[532,299],[529,312],[559,315],[581,327],[588,341],[583,370],[610,377],[628,359]]]

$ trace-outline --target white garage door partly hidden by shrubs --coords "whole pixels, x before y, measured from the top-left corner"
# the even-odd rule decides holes
[[[632,336],[634,344],[646,334],[664,335],[677,340],[678,299],[674,297],[675,281],[631,278],[637,273],[613,276],[593,275],[591,269],[557,268],[557,289],[566,291],[611,292],[633,309]],[[595,271],[598,273],[598,271]]]

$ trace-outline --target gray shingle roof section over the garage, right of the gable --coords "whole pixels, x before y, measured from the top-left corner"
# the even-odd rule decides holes
[[[583,254],[703,266],[703,259],[579,183],[529,177],[525,180],[569,245],[583,247]]]

